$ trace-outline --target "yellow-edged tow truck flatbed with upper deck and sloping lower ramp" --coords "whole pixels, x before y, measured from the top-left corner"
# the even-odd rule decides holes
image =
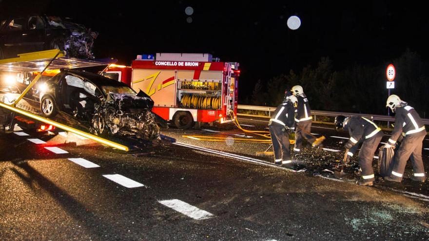
[[[94,60],[82,60],[76,58],[64,57],[59,50],[41,51],[29,54],[21,54],[17,58],[2,59],[0,60],[0,71],[8,72],[39,72],[40,74],[46,70],[55,69],[73,69],[84,67],[95,67],[100,65],[107,65],[104,62]],[[39,75],[40,75],[39,74]],[[39,78],[36,77],[27,89],[31,88],[35,81]],[[95,136],[89,133],[88,127],[79,123],[78,120],[71,118],[65,113],[59,111],[59,115],[55,118],[45,118],[39,108],[39,102],[23,98],[28,90],[18,93],[5,93],[0,90],[0,108],[5,108],[9,111],[14,111],[20,115],[35,119],[36,121],[43,122],[49,125],[58,127],[59,129],[69,131],[80,136],[92,139],[102,144],[108,145],[113,148],[122,149],[125,151],[146,148],[154,144],[154,142],[136,139],[127,136]],[[15,104],[3,103],[3,96],[9,95],[10,99],[15,99]],[[18,96],[18,97],[17,97]],[[67,125],[61,124],[67,123]],[[173,138],[161,135],[162,143],[175,142]]]

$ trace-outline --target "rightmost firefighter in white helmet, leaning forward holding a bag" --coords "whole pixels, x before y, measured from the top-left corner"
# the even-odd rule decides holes
[[[404,175],[405,165],[411,158],[414,175],[411,180],[425,182],[425,169],[422,160],[423,139],[427,132],[417,111],[410,107],[407,102],[402,101],[399,96],[392,94],[387,98],[386,107],[395,113],[395,127],[385,148],[394,148],[398,138],[405,133],[398,150],[396,150],[393,169],[390,177],[384,179],[392,182],[401,182]]]

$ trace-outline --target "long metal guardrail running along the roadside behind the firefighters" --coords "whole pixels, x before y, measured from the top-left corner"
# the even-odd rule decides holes
[[[249,105],[238,105],[237,109],[239,110],[249,110],[249,111],[268,111],[268,114],[271,116],[271,112],[275,111],[276,107],[268,107],[268,106],[249,106]],[[395,118],[393,116],[388,115],[380,115],[380,114],[362,114],[362,113],[351,113],[351,112],[335,112],[335,111],[313,111],[312,115],[314,115],[314,120],[316,116],[351,116],[351,115],[359,115],[371,120],[375,121],[387,121],[387,122],[395,122]],[[423,124],[429,125],[429,119],[422,119]]]

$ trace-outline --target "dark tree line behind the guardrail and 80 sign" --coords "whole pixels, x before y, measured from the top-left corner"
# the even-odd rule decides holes
[[[380,66],[353,64],[341,71],[333,69],[329,57],[322,57],[316,66],[308,65],[299,73],[291,70],[268,81],[258,80],[247,103],[277,106],[283,100],[285,89],[301,85],[313,110],[387,114],[389,63],[396,69],[395,89],[390,94],[399,95],[425,118],[429,110],[429,65],[409,50]]]

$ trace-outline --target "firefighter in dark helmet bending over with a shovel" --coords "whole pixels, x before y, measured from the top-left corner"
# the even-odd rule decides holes
[[[338,115],[335,117],[335,127],[336,130],[348,130],[350,134],[349,141],[344,145],[347,151],[345,164],[350,161],[356,152],[358,144],[362,143],[358,157],[358,163],[362,169],[362,179],[356,183],[358,185],[372,186],[375,180],[374,171],[372,170],[372,160],[378,144],[380,144],[381,138],[384,136],[383,131],[374,122],[361,116],[345,117]]]

